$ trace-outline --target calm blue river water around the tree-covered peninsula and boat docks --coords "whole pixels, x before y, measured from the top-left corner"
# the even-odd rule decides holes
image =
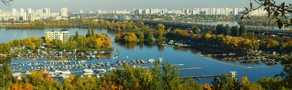
[[[60,28],[48,28],[48,29],[1,29],[0,30],[0,42],[8,42],[14,39],[24,39],[26,37],[43,37],[46,31],[51,30],[62,30]],[[74,35],[75,31],[78,31],[79,35],[86,35],[88,29],[78,29],[78,28],[70,28],[70,35]],[[115,31],[108,32],[107,30],[94,30],[95,33],[106,33],[109,37],[114,37],[117,33]],[[250,81],[256,82],[257,78],[261,78],[262,76],[272,76],[281,73],[283,66],[276,67],[264,67],[264,68],[240,68],[236,66],[222,64],[216,61],[207,60],[199,55],[201,54],[221,54],[220,52],[214,52],[204,49],[193,48],[192,50],[185,50],[175,47],[167,47],[163,45],[154,45],[147,42],[142,43],[114,43],[114,40],[111,40],[113,47],[119,50],[120,54],[117,60],[125,60],[129,62],[134,59],[155,59],[163,58],[163,62],[165,63],[169,60],[172,64],[184,64],[184,66],[178,66],[178,68],[191,68],[191,67],[202,67],[202,69],[197,70],[184,70],[180,71],[181,76],[193,76],[193,75],[219,75],[223,72],[229,74],[230,71],[237,72],[237,78],[241,78],[243,76],[248,76]],[[116,52],[111,52],[110,57],[114,56]],[[128,59],[126,58],[128,56]],[[224,63],[230,63],[235,65],[240,65],[244,67],[255,67],[255,66],[266,66],[265,64],[261,65],[251,65],[242,62],[228,62],[220,60],[219,57],[208,57],[213,60],[219,60]],[[109,61],[110,63],[116,62],[117,60],[89,60],[87,63],[97,63]],[[13,60],[12,63],[24,63],[24,62],[44,62],[45,60]],[[49,61],[47,61],[49,62]],[[151,66],[154,64],[143,64],[142,66]],[[29,69],[28,66],[11,66],[11,68],[19,69]],[[81,70],[81,69],[80,69]],[[79,69],[73,69],[73,71],[80,71]],[[24,72],[23,72],[24,74]],[[75,75],[82,75],[83,73],[74,73]],[[201,78],[201,80],[197,80],[199,83],[211,83],[213,78]],[[240,79],[239,79],[240,81]]]

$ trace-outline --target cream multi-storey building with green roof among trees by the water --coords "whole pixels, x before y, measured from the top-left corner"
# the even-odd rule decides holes
[[[66,30],[66,29],[63,29],[63,30],[60,30],[60,31],[48,31],[46,32],[45,34],[45,39],[50,39],[51,41],[52,40],[55,40],[55,39],[59,39],[59,40],[62,40],[63,42],[66,42],[69,40],[69,30]]]

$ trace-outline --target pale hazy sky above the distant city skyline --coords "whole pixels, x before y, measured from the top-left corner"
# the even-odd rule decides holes
[[[278,3],[292,3],[292,0],[276,0]],[[33,10],[41,8],[50,8],[51,12],[60,12],[62,7],[68,8],[69,12],[94,11],[97,10],[131,10],[135,8],[168,8],[181,10],[182,8],[196,7],[249,7],[250,0],[14,0],[11,7],[0,4],[0,9],[12,11],[16,8],[32,8]],[[256,3],[254,3],[256,5]]]

